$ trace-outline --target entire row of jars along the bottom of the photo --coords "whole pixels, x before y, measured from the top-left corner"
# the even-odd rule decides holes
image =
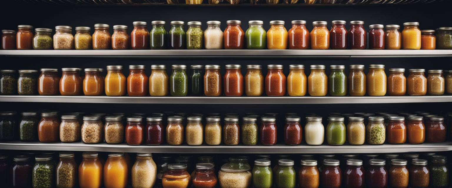
[[[7,156],[0,156],[0,163],[5,164],[0,168],[5,171],[3,185],[125,188],[127,179],[131,179],[132,188],[214,188],[218,184],[221,188],[447,188],[450,175],[446,156],[433,155],[424,160],[411,153],[403,158],[388,154],[386,160],[378,159],[378,155],[364,155],[363,160],[358,155],[344,155],[342,161],[335,160],[334,155],[320,156],[319,160],[302,155],[300,165],[295,165],[290,156],[278,156],[276,165],[270,156],[255,156],[254,165],[248,164],[247,156],[229,157],[218,173],[209,156],[201,160],[198,157],[202,163],[196,165],[189,158],[178,161],[182,158],[178,157],[178,163],[171,164],[170,158],[160,157],[159,166],[151,153],[137,153],[133,165],[127,153],[109,154],[104,161],[96,152],[84,152],[80,165],[72,152],[61,152],[59,156],[57,165],[52,156],[37,156],[33,168],[28,156],[14,156],[11,166]]]

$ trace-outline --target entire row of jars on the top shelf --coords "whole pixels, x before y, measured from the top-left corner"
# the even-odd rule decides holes
[[[36,28],[33,36],[33,26],[19,25],[18,32],[2,30],[2,48],[5,50],[146,50],[146,49],[315,49],[315,50],[434,50],[452,49],[452,28],[435,30],[420,30],[419,23],[404,23],[404,29],[399,32],[400,25],[374,24],[369,26],[367,34],[363,21],[351,21],[350,29],[345,28],[346,21],[332,21],[328,30],[327,22],[315,21],[314,28],[309,32],[306,21],[292,21],[292,28],[284,27],[281,20],[270,21],[270,29],[266,32],[264,22],[251,20],[246,32],[240,28],[240,20],[228,20],[224,31],[220,21],[208,21],[207,29],[202,31],[201,22],[188,22],[185,32],[183,21],[172,21],[171,30],[165,30],[165,21],[152,21],[151,32],[147,30],[146,22],[133,22],[130,35],[127,26],[114,25],[113,35],[110,35],[108,24],[95,24],[91,36],[90,27],[76,27],[75,36],[71,26],[56,26],[52,38],[52,29]],[[367,45],[367,35],[368,42]]]

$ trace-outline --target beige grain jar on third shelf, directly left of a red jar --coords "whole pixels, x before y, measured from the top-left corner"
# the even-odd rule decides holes
[[[105,142],[109,144],[118,144],[124,142],[124,124],[122,117],[105,117]]]

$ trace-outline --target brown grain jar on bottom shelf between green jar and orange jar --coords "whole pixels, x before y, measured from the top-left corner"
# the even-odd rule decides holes
[[[56,187],[75,188],[78,179],[78,166],[73,152],[60,152],[60,162],[56,165]]]

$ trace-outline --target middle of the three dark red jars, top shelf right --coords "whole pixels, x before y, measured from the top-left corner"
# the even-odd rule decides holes
[[[348,45],[352,50],[364,50],[367,45],[367,32],[363,21],[351,21],[348,30]]]

